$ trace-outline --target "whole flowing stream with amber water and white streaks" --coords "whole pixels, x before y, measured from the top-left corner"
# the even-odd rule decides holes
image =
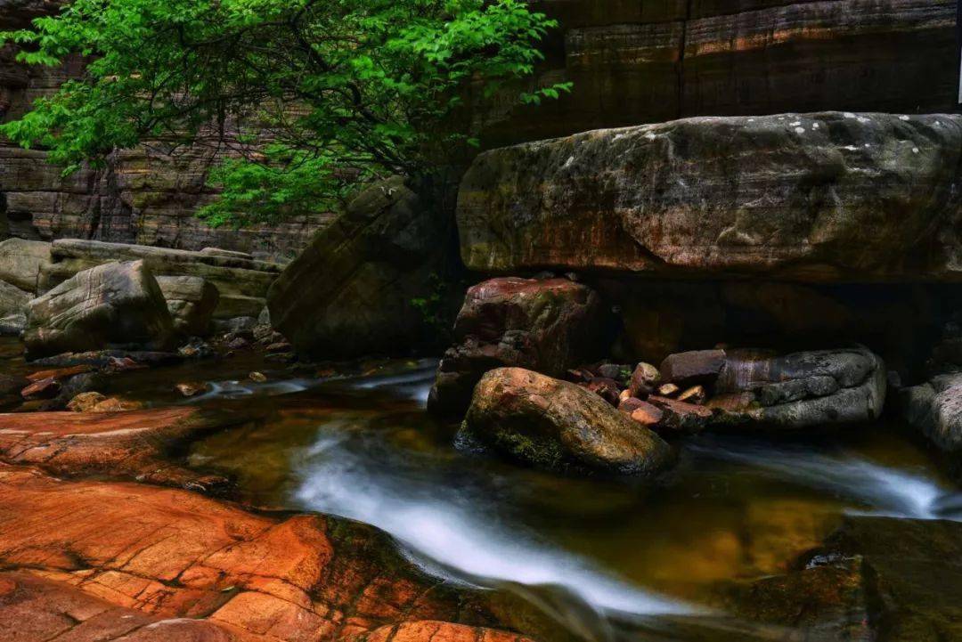
[[[251,504],[388,531],[429,571],[510,587],[588,640],[617,639],[625,622],[646,623],[653,639],[696,639],[672,623],[722,626],[726,584],[784,572],[846,514],[962,519],[929,454],[885,424],[804,441],[693,437],[657,484],[519,468],[459,448],[457,427],[425,414],[434,366],[377,362],[339,377],[186,365],[133,373],[113,392],[241,408],[250,421],[195,444],[191,465],[230,472]],[[244,378],[248,368],[268,382]],[[178,397],[171,382],[189,378],[208,379],[209,392]]]

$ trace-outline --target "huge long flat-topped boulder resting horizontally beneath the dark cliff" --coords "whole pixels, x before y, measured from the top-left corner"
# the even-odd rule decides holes
[[[494,272],[958,281],[960,160],[956,114],[702,117],[517,145],[465,176],[461,253]]]

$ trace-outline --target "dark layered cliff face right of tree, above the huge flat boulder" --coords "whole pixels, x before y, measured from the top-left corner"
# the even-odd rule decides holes
[[[489,118],[491,146],[683,116],[954,111],[952,0],[542,0],[538,82],[570,95]]]

